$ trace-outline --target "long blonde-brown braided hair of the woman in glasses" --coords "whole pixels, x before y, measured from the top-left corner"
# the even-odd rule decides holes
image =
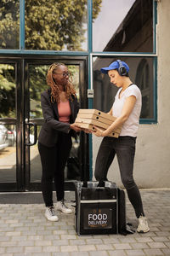
[[[65,64],[54,62],[48,68],[48,74],[46,78],[47,84],[51,88],[51,102],[58,102],[58,103],[59,103],[59,86],[54,82],[53,73],[54,73],[54,70],[56,70],[59,66],[65,66]],[[74,86],[71,83],[71,81],[68,81],[68,84],[65,86],[65,96],[68,100],[71,99],[71,102],[73,101],[72,96],[76,96],[76,90],[74,89]]]

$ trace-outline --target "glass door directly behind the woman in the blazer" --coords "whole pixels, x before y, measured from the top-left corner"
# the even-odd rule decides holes
[[[87,106],[86,60],[26,60],[25,88],[25,134],[26,134],[26,189],[39,190],[42,166],[37,149],[37,137],[43,118],[41,93],[48,89],[46,75],[53,62],[64,62],[71,72],[72,82],[77,90],[77,98],[81,108]],[[86,155],[86,157],[85,157]],[[73,188],[73,181],[88,177],[88,136],[80,133],[77,140],[72,138],[71,154],[65,166],[65,189]]]

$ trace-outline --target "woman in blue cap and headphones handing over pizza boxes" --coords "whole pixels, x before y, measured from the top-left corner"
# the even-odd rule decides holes
[[[115,102],[108,114],[116,117],[105,131],[97,127],[93,133],[97,137],[104,137],[99,147],[95,164],[95,177],[99,181],[107,180],[107,173],[116,155],[121,172],[122,183],[127,190],[129,201],[132,203],[136,217],[139,219],[137,231],[145,233],[150,230],[147,219],[144,217],[139,188],[133,179],[133,161],[135,154],[135,143],[139,127],[139,116],[141,111],[141,92],[139,87],[130,80],[128,76],[129,67],[127,63],[117,60],[109,67],[101,68],[102,73],[107,73],[119,90],[115,96]],[[108,137],[117,127],[122,125],[120,137]]]

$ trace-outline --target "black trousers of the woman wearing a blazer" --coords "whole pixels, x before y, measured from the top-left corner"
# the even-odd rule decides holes
[[[46,207],[53,204],[53,181],[57,201],[65,197],[65,164],[71,151],[71,135],[60,132],[58,142],[48,148],[38,143],[38,150],[42,162],[42,195]]]

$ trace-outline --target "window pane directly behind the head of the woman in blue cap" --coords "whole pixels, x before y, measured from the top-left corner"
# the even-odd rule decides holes
[[[100,72],[101,67],[108,67],[119,57],[94,57],[94,108],[108,112],[114,102],[117,88],[110,82],[107,74]],[[142,93],[142,111],[140,118],[154,118],[153,102],[153,58],[122,57],[130,67],[129,76]]]

